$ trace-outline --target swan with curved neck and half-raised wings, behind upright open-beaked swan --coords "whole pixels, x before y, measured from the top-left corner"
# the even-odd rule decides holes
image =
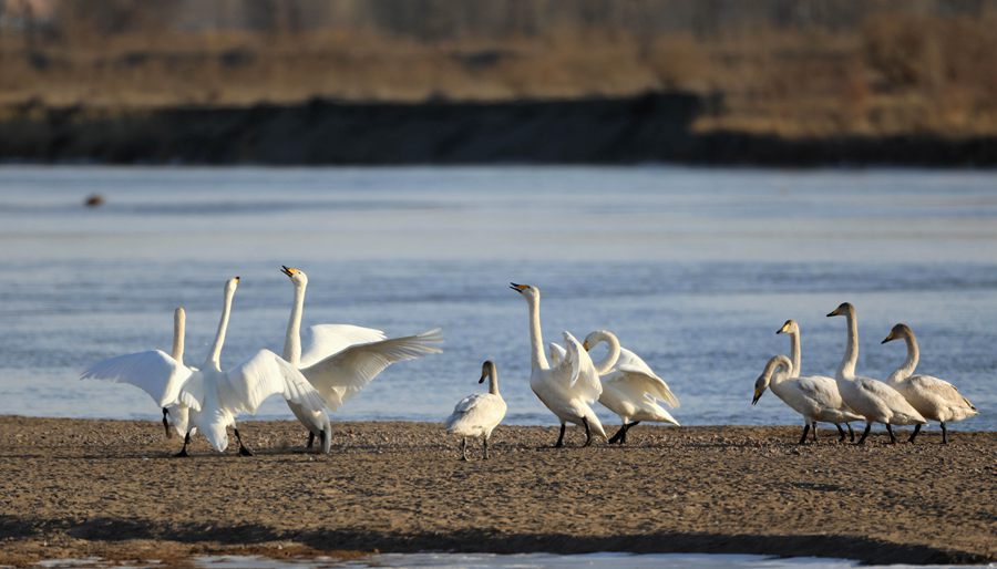
[[[589,351],[600,342],[609,345],[609,353],[605,359],[595,363],[603,383],[599,403],[616,413],[623,421],[623,425],[609,438],[609,443],[626,444],[627,432],[641,421],[671,423],[680,426],[670,413],[658,405],[657,400],[661,400],[672,407],[679,406],[678,397],[671,393],[671,389],[668,387],[665,380],[658,377],[639,355],[623,348],[617,335],[608,330],[596,330],[589,333],[582,342],[582,348]]]

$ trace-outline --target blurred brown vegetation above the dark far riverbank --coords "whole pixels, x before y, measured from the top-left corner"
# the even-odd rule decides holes
[[[698,132],[997,134],[997,0],[0,0],[0,107],[719,94]]]

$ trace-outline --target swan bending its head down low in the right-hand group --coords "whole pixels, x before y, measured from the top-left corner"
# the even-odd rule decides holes
[[[849,411],[842,411],[841,395],[837,384],[831,377],[821,375],[792,376],[793,364],[785,355],[775,355],[765,364],[765,370],[754,382],[754,399],[751,404],[758,403],[767,389],[771,387],[783,403],[796,413],[803,415],[803,435],[798,444],[806,443],[806,432],[813,426],[816,442],[816,422],[837,423],[847,421],[861,421],[862,417]],[[839,442],[844,441],[845,434],[841,426],[837,427],[841,435]]]

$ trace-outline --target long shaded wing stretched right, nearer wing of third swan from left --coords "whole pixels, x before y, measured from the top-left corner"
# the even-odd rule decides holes
[[[351,345],[308,368],[301,373],[319,391],[332,411],[394,362],[440,353],[441,330]]]

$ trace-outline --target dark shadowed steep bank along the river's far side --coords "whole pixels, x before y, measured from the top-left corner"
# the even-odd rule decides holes
[[[99,164],[635,164],[997,166],[997,137],[780,137],[698,132],[723,102],[618,99],[145,110],[8,107],[0,162]]]

